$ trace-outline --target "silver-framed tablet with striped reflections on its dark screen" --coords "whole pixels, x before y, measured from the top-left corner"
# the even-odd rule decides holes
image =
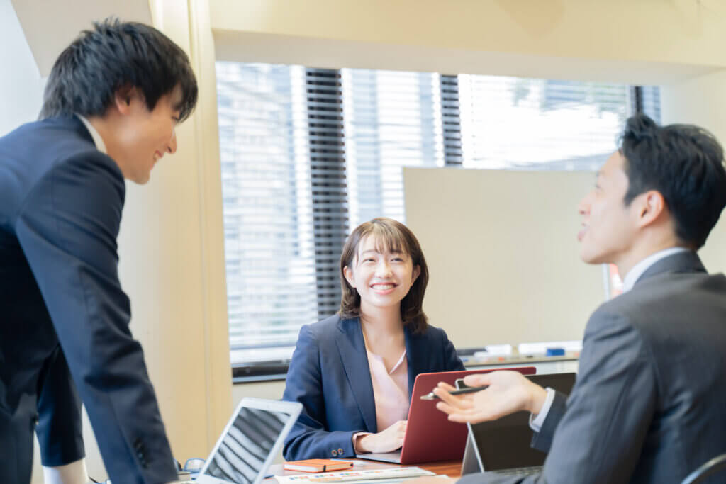
[[[302,409],[298,402],[242,398],[195,482],[259,484]]]

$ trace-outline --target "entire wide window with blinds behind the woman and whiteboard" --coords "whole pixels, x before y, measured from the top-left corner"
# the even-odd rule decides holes
[[[239,62],[216,75],[232,364],[282,373],[301,325],[338,308],[350,229],[405,221],[401,167],[595,170],[628,115],[660,118],[654,87]]]

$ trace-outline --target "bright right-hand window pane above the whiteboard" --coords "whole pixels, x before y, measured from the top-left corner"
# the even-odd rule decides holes
[[[460,75],[464,166],[597,170],[629,115],[629,86]]]

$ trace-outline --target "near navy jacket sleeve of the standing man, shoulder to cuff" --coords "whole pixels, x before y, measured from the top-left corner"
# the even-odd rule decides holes
[[[38,181],[15,218],[15,232],[111,479],[163,483],[176,472],[118,281],[123,196],[113,160],[89,151],[57,163]]]

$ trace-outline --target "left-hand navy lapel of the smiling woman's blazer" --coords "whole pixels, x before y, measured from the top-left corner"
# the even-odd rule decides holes
[[[343,362],[348,385],[356,398],[358,408],[363,416],[367,432],[378,432],[375,419],[375,398],[373,383],[370,380],[370,367],[365,352],[365,343],[359,319],[341,319],[338,322],[338,334],[335,344],[338,345],[340,361]]]

